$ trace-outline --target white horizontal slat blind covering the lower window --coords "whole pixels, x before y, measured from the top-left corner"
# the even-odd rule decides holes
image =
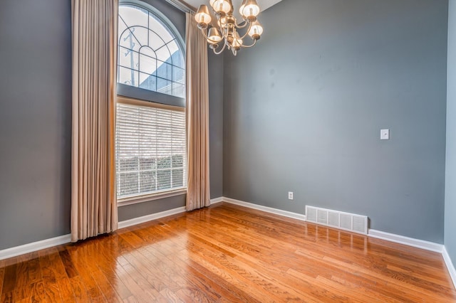
[[[187,186],[185,112],[118,103],[117,197]]]

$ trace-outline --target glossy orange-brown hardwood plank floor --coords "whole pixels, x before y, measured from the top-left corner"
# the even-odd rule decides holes
[[[442,256],[227,203],[0,260],[0,302],[456,302]]]

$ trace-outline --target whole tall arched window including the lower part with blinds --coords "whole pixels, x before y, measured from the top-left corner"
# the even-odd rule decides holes
[[[185,193],[182,44],[160,12],[147,4],[120,3],[115,134],[119,205]]]

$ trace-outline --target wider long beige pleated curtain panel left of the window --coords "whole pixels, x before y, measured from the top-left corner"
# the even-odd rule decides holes
[[[72,0],[71,241],[118,228],[115,84],[118,0]]]

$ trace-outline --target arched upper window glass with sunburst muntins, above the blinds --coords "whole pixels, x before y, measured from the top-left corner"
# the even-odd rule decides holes
[[[177,36],[158,16],[119,7],[118,83],[185,97],[185,63]]]

